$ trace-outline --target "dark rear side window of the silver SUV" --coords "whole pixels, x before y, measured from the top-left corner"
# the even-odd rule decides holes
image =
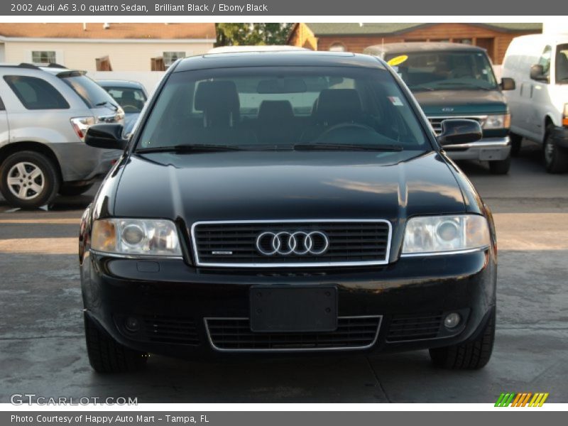
[[[23,75],[6,75],[4,80],[26,109],[69,108],[69,104],[58,90],[43,79]]]

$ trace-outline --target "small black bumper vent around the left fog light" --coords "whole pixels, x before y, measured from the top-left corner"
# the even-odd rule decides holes
[[[166,344],[200,343],[197,337],[195,320],[180,317],[164,317],[159,315],[141,316],[131,315],[140,322],[138,332],[129,332],[124,327],[126,317],[117,317],[116,322],[122,334],[138,342],[153,342]]]

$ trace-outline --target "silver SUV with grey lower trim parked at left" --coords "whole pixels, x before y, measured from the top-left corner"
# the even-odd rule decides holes
[[[124,111],[84,71],[0,65],[0,191],[13,206],[80,195],[116,151],[84,144],[89,126],[124,123]]]

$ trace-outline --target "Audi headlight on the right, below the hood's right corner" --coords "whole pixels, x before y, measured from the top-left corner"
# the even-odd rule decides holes
[[[487,219],[476,214],[413,217],[406,224],[403,254],[443,254],[491,244]]]

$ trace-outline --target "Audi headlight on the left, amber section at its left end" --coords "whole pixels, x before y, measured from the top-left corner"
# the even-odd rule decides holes
[[[133,256],[182,256],[175,224],[162,219],[97,220],[91,249]]]

